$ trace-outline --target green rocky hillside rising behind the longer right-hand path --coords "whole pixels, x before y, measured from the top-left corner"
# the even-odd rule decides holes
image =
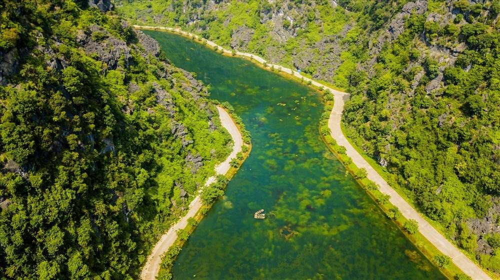
[[[345,133],[500,272],[500,1],[117,1],[351,93]]]

